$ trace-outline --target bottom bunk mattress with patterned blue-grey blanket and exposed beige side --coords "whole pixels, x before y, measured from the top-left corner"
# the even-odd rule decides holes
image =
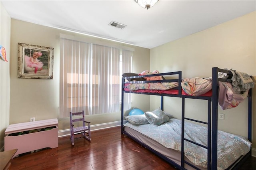
[[[171,163],[176,168],[182,169],[180,128],[181,121],[172,118],[170,121],[159,126],[152,126],[150,124],[132,125],[127,122],[124,125],[123,133]],[[200,141],[201,144],[207,145],[206,127],[185,123],[185,128],[188,131],[188,133],[185,134],[187,138],[195,142]],[[242,136],[219,130],[218,139],[218,170],[233,168],[238,160],[250,152],[251,143]],[[184,160],[186,162],[196,166],[196,168],[200,170],[207,169],[207,149],[185,142],[184,154]],[[188,170],[194,169],[187,164],[184,164],[184,168]]]

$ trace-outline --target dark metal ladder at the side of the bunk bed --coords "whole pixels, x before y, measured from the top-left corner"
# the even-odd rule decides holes
[[[194,98],[194,99],[197,99],[197,98]],[[184,160],[184,142],[186,140],[186,142],[190,142],[190,143],[193,143],[193,144],[196,144],[198,146],[201,146],[203,148],[206,148],[207,149],[207,167],[208,167],[208,170],[211,169],[211,117],[212,117],[212,101],[211,101],[211,98],[208,97],[206,99],[208,101],[208,120],[207,122],[203,122],[203,121],[198,121],[198,120],[195,120],[195,119],[190,119],[190,118],[186,118],[185,117],[185,97],[182,97],[182,128],[181,128],[181,133],[182,133],[182,136],[181,136],[181,166],[182,168],[184,168],[184,163],[188,164],[189,166],[195,168],[196,170],[200,170],[199,168],[197,168],[196,166],[190,164],[189,162],[187,162],[186,160]],[[204,146],[202,144],[199,144],[197,142],[194,142],[192,140],[189,140],[187,138],[185,138],[184,136],[184,133],[185,133],[185,119],[186,120],[189,120],[189,121],[194,121],[194,122],[197,122],[197,123],[201,123],[201,124],[206,124],[207,125],[207,128],[208,128],[208,135],[207,135],[207,146]]]

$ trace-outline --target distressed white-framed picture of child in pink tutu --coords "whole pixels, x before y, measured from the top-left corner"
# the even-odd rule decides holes
[[[18,78],[53,79],[54,48],[18,43]]]

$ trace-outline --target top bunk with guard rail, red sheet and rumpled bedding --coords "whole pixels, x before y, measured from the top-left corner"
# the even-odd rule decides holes
[[[144,74],[124,73],[122,92],[195,99],[208,99],[218,93],[224,104],[227,99],[222,94],[225,92],[239,102],[250,95],[249,90],[254,87],[248,74],[218,67],[213,67],[212,77],[207,78],[182,78],[182,71]]]

